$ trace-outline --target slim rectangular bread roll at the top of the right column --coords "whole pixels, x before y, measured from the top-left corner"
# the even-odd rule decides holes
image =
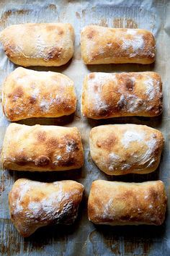
[[[81,31],[85,64],[151,64],[155,54],[155,39],[148,30],[89,25]]]

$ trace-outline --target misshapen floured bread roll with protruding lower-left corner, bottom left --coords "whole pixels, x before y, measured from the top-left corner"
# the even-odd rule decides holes
[[[44,183],[18,179],[9,192],[9,211],[19,234],[30,236],[41,226],[75,221],[84,186],[71,180]]]

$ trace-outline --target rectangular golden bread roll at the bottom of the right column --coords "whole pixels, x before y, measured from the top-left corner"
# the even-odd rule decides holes
[[[161,225],[166,213],[164,183],[92,183],[88,201],[89,221],[107,225]]]

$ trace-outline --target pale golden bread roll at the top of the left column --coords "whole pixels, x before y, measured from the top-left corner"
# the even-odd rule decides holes
[[[6,27],[0,41],[10,61],[20,66],[61,66],[73,56],[69,23],[25,23]]]

